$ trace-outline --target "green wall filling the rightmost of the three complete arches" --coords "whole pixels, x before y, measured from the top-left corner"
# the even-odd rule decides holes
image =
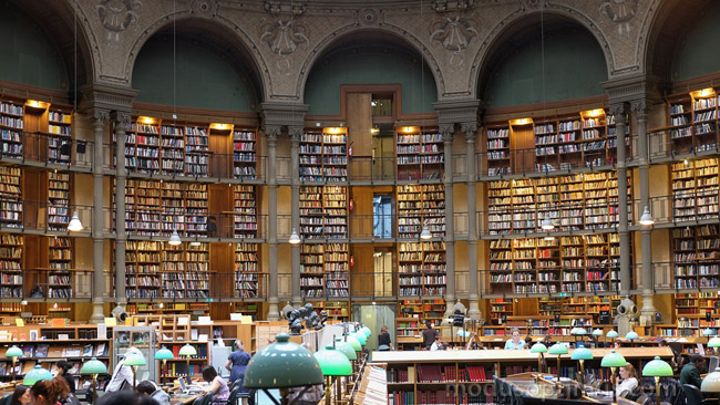
[[[589,32],[563,31],[545,37],[545,97],[542,61],[539,38],[513,50],[498,61],[488,77],[492,82],[481,83],[486,89],[483,100],[505,107],[604,94],[600,82],[608,76],[605,56]]]

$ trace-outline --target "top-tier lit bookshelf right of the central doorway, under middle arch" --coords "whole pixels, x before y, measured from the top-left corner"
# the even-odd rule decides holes
[[[418,126],[401,126],[395,133],[398,179],[441,179],[445,162],[442,134]]]

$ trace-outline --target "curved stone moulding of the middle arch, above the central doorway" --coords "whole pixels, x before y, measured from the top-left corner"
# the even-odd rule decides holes
[[[308,52],[308,56],[298,71],[296,94],[298,94],[299,100],[302,100],[305,96],[305,87],[307,85],[308,74],[312,70],[312,66],[318,62],[320,56],[326,52],[332,50],[344,39],[366,32],[372,32],[376,33],[376,35],[390,35],[397,41],[397,43],[402,44],[403,46],[409,46],[414,52],[418,52],[419,55],[422,52],[423,61],[430,68],[433,80],[435,81],[435,86],[438,89],[438,100],[440,100],[441,94],[443,94],[444,82],[435,56],[415,35],[401,28],[389,24],[380,24],[379,27],[358,27],[356,24],[344,25],[332,32],[329,32],[325,38],[318,41],[317,45],[310,50],[310,52]]]

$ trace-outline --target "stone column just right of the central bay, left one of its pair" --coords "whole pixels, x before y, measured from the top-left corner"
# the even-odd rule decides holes
[[[452,315],[452,308],[455,305],[455,227],[454,227],[454,206],[453,206],[453,156],[452,141],[454,125],[443,125],[440,128],[444,142],[445,175],[443,183],[445,186],[445,318]]]

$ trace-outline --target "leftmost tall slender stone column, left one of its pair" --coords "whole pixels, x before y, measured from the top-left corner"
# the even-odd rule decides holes
[[[103,196],[103,165],[104,165],[104,132],[107,112],[93,111],[93,312],[90,322],[102,323],[105,320],[105,268],[104,268],[104,196]]]

